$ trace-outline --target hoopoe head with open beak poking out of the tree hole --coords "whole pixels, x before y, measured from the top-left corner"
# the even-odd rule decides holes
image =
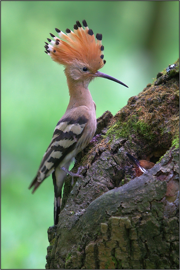
[[[141,176],[143,173],[146,173],[147,170],[151,169],[155,164],[147,160],[138,160],[131,156],[129,153],[126,153],[129,159],[132,161],[133,165],[136,168],[136,176]]]

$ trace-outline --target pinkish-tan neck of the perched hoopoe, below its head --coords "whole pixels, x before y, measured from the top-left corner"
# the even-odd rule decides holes
[[[89,109],[94,107],[94,102],[91,97],[91,93],[88,89],[88,84],[84,84],[78,80],[68,80],[67,84],[70,93],[70,102],[67,109],[86,106]]]

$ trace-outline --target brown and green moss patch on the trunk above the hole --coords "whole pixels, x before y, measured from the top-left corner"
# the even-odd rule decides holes
[[[163,82],[169,81],[179,72],[179,61],[169,72],[163,71]],[[168,79],[169,77],[169,79]],[[157,137],[164,142],[167,138],[176,138],[179,130],[179,85],[174,80],[170,85],[152,85],[146,87],[138,96],[131,97],[127,105],[114,117],[105,137],[111,143],[114,139],[140,136],[147,141]],[[163,146],[163,145],[162,145]]]

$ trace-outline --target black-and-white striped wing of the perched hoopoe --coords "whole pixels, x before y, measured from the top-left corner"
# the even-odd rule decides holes
[[[89,109],[86,106],[71,109],[59,120],[50,145],[42,158],[37,176],[29,187],[34,186],[33,192],[46,177],[53,173],[64,157],[75,149],[88,120]]]

